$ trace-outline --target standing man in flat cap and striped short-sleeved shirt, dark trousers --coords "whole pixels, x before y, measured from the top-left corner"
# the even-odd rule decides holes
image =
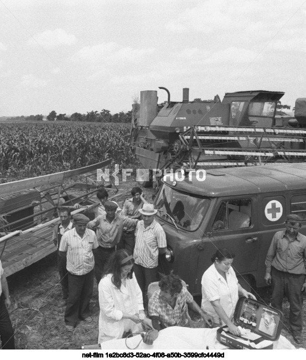
[[[67,258],[69,295],[65,324],[73,331],[78,318],[90,323],[89,301],[93,291],[94,249],[98,247],[95,233],[86,229],[89,219],[82,214],[73,216],[75,228],[61,238],[59,255]]]

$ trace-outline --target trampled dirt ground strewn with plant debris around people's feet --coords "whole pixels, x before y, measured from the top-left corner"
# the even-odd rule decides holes
[[[120,188],[130,190],[136,186],[135,178],[128,182],[120,182]],[[112,195],[109,191],[109,196]],[[153,190],[144,189],[145,198],[152,201]],[[117,197],[115,200],[123,205],[129,194]],[[94,283],[91,301],[92,323],[81,321],[73,333],[67,332],[64,324],[65,308],[57,308],[61,300],[61,287],[58,283],[59,275],[56,266],[55,253],[29,266],[28,268],[7,278],[10,289],[12,306],[9,310],[13,328],[16,331],[16,349],[73,349],[81,345],[96,344],[98,339],[99,302],[98,289]],[[261,297],[269,303],[269,288],[258,290]],[[200,303],[200,299],[196,299]],[[303,337],[306,339],[306,312],[304,306]],[[285,314],[282,335],[296,345],[288,332],[289,304],[285,300],[283,311]],[[199,316],[190,312],[193,321],[200,325]],[[300,347],[306,347],[306,341]]]

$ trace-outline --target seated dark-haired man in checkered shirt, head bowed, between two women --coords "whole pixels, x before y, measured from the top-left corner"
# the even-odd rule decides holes
[[[148,307],[154,329],[160,331],[170,326],[188,327],[187,305],[201,315],[207,325],[213,325],[213,318],[201,310],[192,295],[183,287],[179,276],[165,276],[158,285],[160,290],[153,293]]]

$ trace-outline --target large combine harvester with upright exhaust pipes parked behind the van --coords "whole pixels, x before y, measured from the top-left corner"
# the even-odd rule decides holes
[[[196,103],[188,88],[182,101],[160,89],[168,93],[162,105],[157,91],[147,90],[140,92],[140,108],[133,106],[130,140],[144,167],[142,186],[149,186],[152,169],[306,161],[306,98],[296,100],[295,117],[283,117],[276,109],[284,92],[238,91]]]

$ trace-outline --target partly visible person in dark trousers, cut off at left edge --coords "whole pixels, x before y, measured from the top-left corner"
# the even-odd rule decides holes
[[[0,261],[0,339],[2,350],[15,349],[14,331],[7,309],[10,307],[10,296],[7,281]]]

